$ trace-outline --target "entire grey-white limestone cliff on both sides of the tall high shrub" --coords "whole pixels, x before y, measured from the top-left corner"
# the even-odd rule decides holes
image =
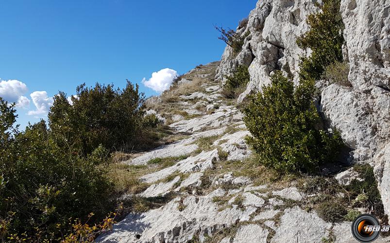
[[[273,70],[290,72],[298,82],[300,49],[296,37],[308,30],[306,17],[318,11],[310,0],[258,1],[248,25],[237,29],[245,35],[237,55],[227,46],[216,79],[224,82],[238,65],[249,66],[251,76],[241,102],[251,92],[270,83]],[[341,0],[344,60],[349,62],[352,87],[319,81],[319,109],[325,125],[337,128],[352,150],[347,162],[370,163],[375,168],[386,212],[390,214],[390,2],[387,0]]]

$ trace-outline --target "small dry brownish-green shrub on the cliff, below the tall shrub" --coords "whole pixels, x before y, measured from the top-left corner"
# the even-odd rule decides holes
[[[352,87],[348,80],[349,63],[335,62],[325,67],[322,77],[341,86]]]

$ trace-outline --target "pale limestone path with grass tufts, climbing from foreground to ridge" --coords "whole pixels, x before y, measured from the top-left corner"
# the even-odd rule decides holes
[[[123,162],[151,167],[146,174],[139,174],[139,180],[148,187],[136,197],[151,202],[164,198],[165,205],[128,214],[97,242],[186,243],[210,238],[226,243],[290,239],[321,242],[333,224],[324,222],[313,210],[306,212],[296,207],[308,200],[295,184],[276,188],[271,184],[255,184],[249,174],[234,167],[245,164],[251,155],[244,139],[249,132],[241,112],[220,96],[213,96],[220,84],[205,80],[203,85],[204,90],[198,94],[207,96],[197,95],[189,102],[187,95],[175,104],[180,111],[203,105],[197,110],[197,117],[187,120],[183,117],[170,124],[174,133],[182,136],[184,132],[185,137]],[[218,105],[207,109],[208,99],[215,99],[211,103]],[[148,163],[155,158],[183,155],[186,156],[182,160],[157,171]],[[350,224],[340,224],[337,230],[349,232]],[[336,242],[343,242],[342,238]]]

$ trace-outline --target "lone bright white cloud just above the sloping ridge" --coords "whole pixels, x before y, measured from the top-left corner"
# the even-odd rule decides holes
[[[142,84],[157,92],[162,92],[170,87],[173,79],[177,76],[177,71],[173,69],[161,69],[152,73],[152,78],[142,80]]]

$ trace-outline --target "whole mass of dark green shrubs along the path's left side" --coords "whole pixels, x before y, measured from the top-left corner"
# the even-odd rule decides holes
[[[65,93],[54,97],[49,127],[42,120],[21,132],[15,104],[0,98],[0,241],[91,241],[111,227],[106,165],[110,150],[158,123],[144,117],[143,102],[130,82],[82,85],[73,104]]]

